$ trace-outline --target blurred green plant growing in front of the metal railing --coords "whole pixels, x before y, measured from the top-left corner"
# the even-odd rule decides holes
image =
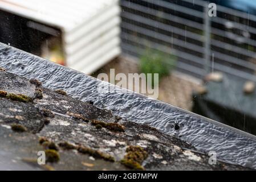
[[[176,65],[176,56],[171,53],[156,51],[155,49],[147,49],[140,57],[139,68],[141,73],[152,73],[152,86],[154,86],[154,73],[159,73],[159,81],[162,77],[168,76]]]

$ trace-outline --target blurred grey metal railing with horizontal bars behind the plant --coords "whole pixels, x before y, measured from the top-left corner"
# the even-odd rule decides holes
[[[207,1],[121,0],[121,48],[139,58],[152,48],[175,55],[178,71],[221,71],[256,81],[256,16]]]

